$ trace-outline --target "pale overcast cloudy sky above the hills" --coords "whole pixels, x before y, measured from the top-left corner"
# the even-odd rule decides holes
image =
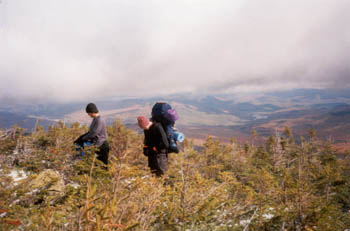
[[[0,98],[350,87],[350,0],[1,0]]]

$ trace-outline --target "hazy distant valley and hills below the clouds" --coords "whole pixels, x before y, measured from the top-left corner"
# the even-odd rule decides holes
[[[294,89],[287,92],[226,94],[216,96],[172,95],[145,99],[103,100],[95,102],[108,123],[120,119],[137,129],[136,117],[150,117],[155,102],[166,101],[177,110],[177,127],[187,137],[204,140],[208,135],[223,141],[235,137],[249,140],[252,130],[262,139],[291,128],[296,139],[315,129],[322,139],[334,143],[350,142],[350,93],[337,89]],[[18,124],[31,129],[47,127],[58,120],[89,124],[84,109],[87,102],[71,104],[0,105],[0,127]]]

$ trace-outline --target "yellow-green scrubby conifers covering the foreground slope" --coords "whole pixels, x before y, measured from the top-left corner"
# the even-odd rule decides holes
[[[0,230],[345,230],[350,228],[350,161],[314,132],[290,129],[257,145],[207,138],[170,154],[168,184],[152,177],[142,136],[108,127],[110,166],[73,140],[87,128],[59,123],[25,135],[0,132]],[[48,170],[50,169],[50,170]],[[28,174],[22,180],[14,170]],[[39,180],[41,181],[39,182]]]

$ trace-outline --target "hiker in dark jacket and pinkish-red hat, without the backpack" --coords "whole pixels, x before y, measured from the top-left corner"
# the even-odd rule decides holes
[[[168,170],[167,135],[160,123],[150,122],[144,116],[137,117],[137,122],[145,134],[143,153],[148,157],[148,167],[156,176],[162,176]]]

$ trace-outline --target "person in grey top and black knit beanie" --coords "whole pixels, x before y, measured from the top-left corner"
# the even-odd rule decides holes
[[[89,131],[76,139],[74,144],[81,147],[84,147],[85,144],[96,145],[98,147],[97,159],[107,165],[109,144],[107,141],[106,122],[101,118],[96,105],[93,103],[89,103],[86,106],[86,113],[93,118]]]

